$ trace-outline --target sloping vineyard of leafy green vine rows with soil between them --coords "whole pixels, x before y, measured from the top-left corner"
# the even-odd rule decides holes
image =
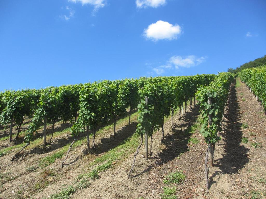
[[[0,198],[265,198],[265,91],[266,66],[1,92]]]

